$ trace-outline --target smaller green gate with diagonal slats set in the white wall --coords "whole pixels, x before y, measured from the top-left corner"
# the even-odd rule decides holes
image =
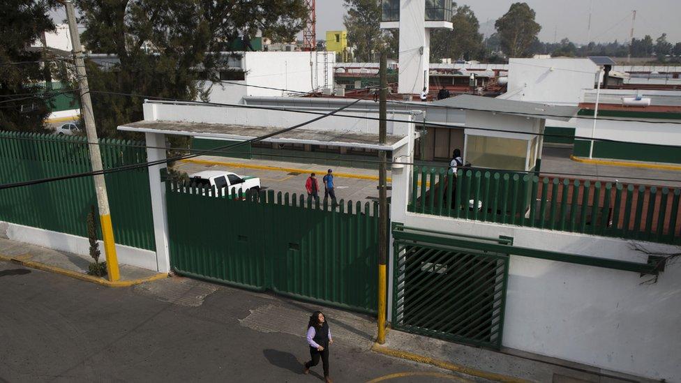
[[[393,234],[394,328],[501,347],[508,255],[433,244],[426,235],[414,241]]]

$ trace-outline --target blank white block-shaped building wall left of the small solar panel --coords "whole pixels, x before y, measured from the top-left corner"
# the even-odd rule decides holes
[[[578,104],[594,89],[598,67],[590,59],[509,59],[507,93],[512,100]]]

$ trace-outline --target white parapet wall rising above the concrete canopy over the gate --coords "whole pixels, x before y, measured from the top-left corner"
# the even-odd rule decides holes
[[[151,112],[152,105],[155,110],[153,113]],[[320,113],[327,113],[329,111],[330,110],[327,109],[318,110]],[[340,113],[356,117],[378,117],[377,111],[371,112],[368,110],[361,112],[345,112],[344,110]],[[214,107],[211,105],[197,104],[174,105],[168,103],[147,103],[145,104],[144,112],[145,120],[191,121],[245,126],[267,126],[272,128],[287,128],[319,116],[320,115],[318,114],[260,110],[245,107]],[[407,120],[406,117],[400,117],[400,119]],[[409,126],[410,123],[389,121],[387,123],[387,133],[389,135],[407,135]],[[302,128],[308,130],[338,130],[378,134],[378,121],[331,116],[310,123]]]

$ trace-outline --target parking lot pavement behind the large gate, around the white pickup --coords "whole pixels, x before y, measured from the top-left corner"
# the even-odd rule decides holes
[[[303,165],[298,165],[302,167]],[[282,193],[307,193],[305,181],[310,176],[305,172],[286,172],[284,170],[261,170],[248,169],[242,167],[227,167],[225,165],[202,165],[197,163],[175,163],[174,169],[192,174],[202,170],[225,170],[239,175],[255,176],[260,178],[263,190],[274,190]],[[320,166],[323,168],[323,166]],[[366,172],[366,170],[361,170]],[[377,173],[377,172],[376,172]],[[316,174],[317,182],[320,185],[320,198],[324,197],[324,186],[322,177],[324,174]],[[349,177],[334,177],[336,185],[336,198],[352,202],[374,202],[378,200],[378,181],[373,179],[357,179]],[[390,192],[388,192],[390,196]]]

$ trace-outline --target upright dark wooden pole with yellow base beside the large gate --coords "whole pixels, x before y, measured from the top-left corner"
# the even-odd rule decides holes
[[[386,118],[388,98],[387,52],[381,52],[380,78],[381,87],[378,102],[378,142],[386,141]],[[388,202],[386,196],[386,153],[378,151],[378,336],[377,342],[385,343],[386,312],[386,260],[388,253]]]

